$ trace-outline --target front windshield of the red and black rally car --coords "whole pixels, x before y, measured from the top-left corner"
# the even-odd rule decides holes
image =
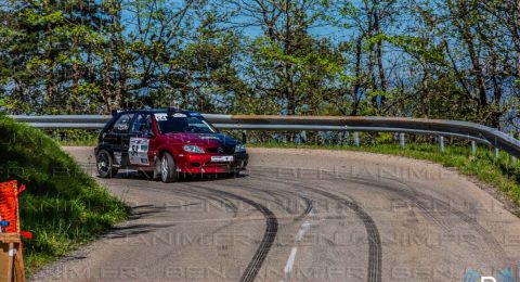
[[[161,134],[169,132],[214,133],[217,130],[200,116],[185,114],[155,114]]]

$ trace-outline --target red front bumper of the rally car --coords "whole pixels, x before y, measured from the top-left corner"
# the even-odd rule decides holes
[[[234,154],[232,162],[212,162],[209,154],[182,154],[178,155],[177,169],[179,172],[187,174],[223,174],[246,169],[249,162],[247,153]]]

